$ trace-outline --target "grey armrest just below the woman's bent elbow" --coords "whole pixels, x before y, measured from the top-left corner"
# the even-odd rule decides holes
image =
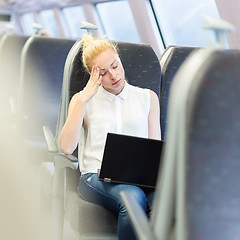
[[[54,166],[56,168],[71,168],[78,169],[78,159],[73,155],[66,155],[64,153],[57,153],[54,155]]]

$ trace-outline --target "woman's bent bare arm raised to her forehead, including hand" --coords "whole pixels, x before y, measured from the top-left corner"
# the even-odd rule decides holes
[[[76,93],[68,110],[67,120],[62,128],[59,143],[61,150],[65,154],[72,154],[80,138],[80,130],[86,112],[86,105],[89,100],[97,93],[102,76],[99,75],[99,67],[93,66],[90,79],[82,92]]]

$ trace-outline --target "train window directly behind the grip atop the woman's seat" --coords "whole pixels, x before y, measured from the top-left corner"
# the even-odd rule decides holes
[[[86,30],[80,29],[80,22],[87,21],[81,6],[63,8],[62,13],[70,37],[80,38],[83,33],[86,33]]]

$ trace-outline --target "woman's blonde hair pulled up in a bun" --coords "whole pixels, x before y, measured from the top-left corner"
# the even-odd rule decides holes
[[[82,62],[88,73],[91,72],[91,61],[100,53],[112,49],[118,52],[117,46],[109,40],[102,38],[94,38],[88,34],[84,34],[82,41]]]

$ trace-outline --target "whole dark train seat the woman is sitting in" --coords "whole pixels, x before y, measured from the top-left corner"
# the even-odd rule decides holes
[[[161,68],[159,60],[148,44],[137,44],[118,42],[119,54],[125,68],[128,82],[135,86],[150,88],[160,97]],[[82,200],[77,193],[79,180],[79,169],[77,151],[73,155],[64,155],[58,146],[57,139],[62,126],[67,118],[67,108],[71,97],[82,90],[89,79],[89,74],[83,69],[81,62],[81,41],[77,42],[70,50],[65,64],[62,101],[59,113],[56,136],[44,126],[46,142],[49,143],[49,151],[54,159],[53,199],[54,206],[59,204],[59,196],[62,194],[63,202],[59,205],[64,209],[65,217],[70,221],[71,226],[77,233],[87,239],[116,239],[116,215],[105,208]],[[54,146],[55,147],[52,147]],[[53,151],[51,151],[53,149]],[[54,149],[58,149],[54,152]],[[68,159],[71,158],[71,159]],[[62,181],[64,178],[64,181]],[[56,184],[56,182],[58,182]],[[67,184],[67,183],[70,184]],[[59,189],[59,186],[61,188]],[[53,207],[53,206],[52,206]],[[88,217],[87,217],[88,216]],[[57,214],[56,214],[57,217]],[[90,223],[91,222],[91,223]],[[59,222],[58,239],[62,238]]]

